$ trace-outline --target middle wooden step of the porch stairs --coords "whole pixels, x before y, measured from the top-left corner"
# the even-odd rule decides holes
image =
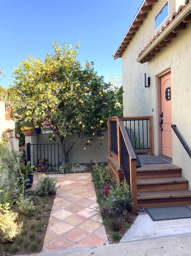
[[[137,179],[137,191],[161,191],[188,189],[188,180],[182,177]]]

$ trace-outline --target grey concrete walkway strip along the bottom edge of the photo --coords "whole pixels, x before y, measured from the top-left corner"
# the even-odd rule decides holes
[[[94,248],[85,247],[54,252],[41,252],[31,254],[30,256],[190,256],[190,244],[191,234],[187,234],[121,244],[101,245]]]

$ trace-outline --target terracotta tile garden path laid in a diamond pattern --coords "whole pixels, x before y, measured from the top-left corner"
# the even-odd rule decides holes
[[[48,175],[57,177],[58,188],[42,252],[108,244],[102,219],[93,217],[96,193],[91,173]],[[36,187],[34,177],[33,187]]]

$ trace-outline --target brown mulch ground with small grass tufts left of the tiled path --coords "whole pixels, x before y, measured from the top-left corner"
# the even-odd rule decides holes
[[[54,198],[55,195],[33,198],[36,210],[32,214],[24,215],[19,211],[18,206],[11,209],[19,213],[16,222],[22,228],[12,243],[4,244],[0,234],[0,254],[20,255],[41,252]]]

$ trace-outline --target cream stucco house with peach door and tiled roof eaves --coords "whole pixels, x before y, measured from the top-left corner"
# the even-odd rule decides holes
[[[191,158],[171,128],[191,149],[191,0],[143,1],[120,57],[123,116],[153,116],[154,154],[172,158],[191,190]]]

